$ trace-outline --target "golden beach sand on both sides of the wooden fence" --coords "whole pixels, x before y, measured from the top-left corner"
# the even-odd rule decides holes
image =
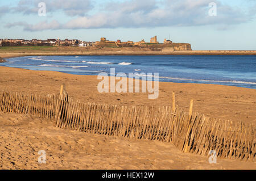
[[[0,89],[33,94],[56,94],[65,83],[69,96],[101,104],[171,105],[217,119],[255,124],[256,90],[241,87],[159,82],[159,98],[148,93],[99,93],[96,76],[0,67]],[[0,112],[1,169],[256,169],[252,162],[185,154],[170,143],[66,131],[49,120]],[[39,164],[38,151],[46,150],[47,163]]]

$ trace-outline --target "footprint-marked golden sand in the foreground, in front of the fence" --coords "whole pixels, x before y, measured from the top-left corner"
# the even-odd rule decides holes
[[[0,113],[0,169],[256,169],[256,163],[186,154],[170,143],[54,128],[51,121]],[[46,164],[39,164],[39,150]]]

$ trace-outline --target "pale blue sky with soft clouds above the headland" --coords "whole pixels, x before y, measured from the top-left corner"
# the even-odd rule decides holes
[[[256,50],[256,0],[0,0],[0,23],[0,39],[158,36],[193,50]]]

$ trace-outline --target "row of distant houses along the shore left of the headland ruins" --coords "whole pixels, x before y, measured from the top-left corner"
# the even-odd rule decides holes
[[[47,39],[47,40],[24,40],[24,39],[0,39],[0,46],[8,45],[53,45],[53,46],[79,46],[79,47],[89,47],[93,46],[95,42],[93,41],[81,41],[77,39],[60,40],[60,39]]]

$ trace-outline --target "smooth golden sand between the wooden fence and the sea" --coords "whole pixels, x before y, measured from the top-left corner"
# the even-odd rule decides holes
[[[56,94],[65,84],[69,96],[82,102],[122,104],[124,106],[168,106],[172,92],[176,104],[188,111],[194,99],[194,111],[217,119],[255,123],[256,90],[242,87],[194,83],[159,82],[158,99],[146,93],[100,93],[97,76],[72,75],[56,71],[33,71],[0,66],[0,87],[3,90],[33,94]],[[116,81],[117,82],[117,81]]]

